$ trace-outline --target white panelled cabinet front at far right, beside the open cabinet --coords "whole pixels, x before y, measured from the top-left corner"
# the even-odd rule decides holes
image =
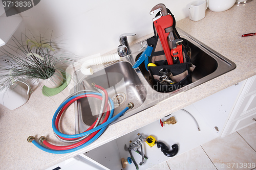
[[[256,76],[245,81],[222,137],[256,123]]]

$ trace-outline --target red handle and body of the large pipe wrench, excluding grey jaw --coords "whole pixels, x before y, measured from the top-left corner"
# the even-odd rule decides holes
[[[156,18],[154,18],[154,25],[159,35],[159,39],[161,41],[168,65],[172,65],[174,64],[174,62],[172,56],[170,55],[170,47],[167,40],[169,33],[166,33],[165,29],[173,26],[173,17],[171,15],[159,15]]]

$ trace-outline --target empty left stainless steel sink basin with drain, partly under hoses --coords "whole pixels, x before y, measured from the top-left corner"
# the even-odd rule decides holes
[[[76,74],[78,77],[84,77],[80,71],[76,71]],[[143,84],[135,69],[127,61],[117,62],[96,71],[91,76],[82,78],[76,89],[77,91],[95,90],[92,87],[92,83],[96,83],[108,91],[108,95],[115,105],[114,116],[122,111],[131,101],[133,101],[134,109],[136,109],[146,99],[146,90],[142,88]],[[84,128],[91,126],[98,117],[101,100],[96,98],[82,98],[77,102],[77,105],[79,105],[80,124],[84,124]]]

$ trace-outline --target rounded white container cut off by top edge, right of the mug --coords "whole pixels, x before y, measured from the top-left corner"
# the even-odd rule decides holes
[[[214,12],[222,12],[231,8],[236,0],[209,0],[209,9]]]

